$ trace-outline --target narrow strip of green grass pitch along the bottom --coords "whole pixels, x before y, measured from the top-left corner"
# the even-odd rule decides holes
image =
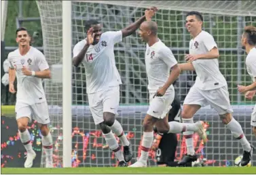
[[[2,174],[255,174],[256,167],[1,168]]]

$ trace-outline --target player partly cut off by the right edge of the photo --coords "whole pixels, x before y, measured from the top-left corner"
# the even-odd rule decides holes
[[[253,83],[249,86],[239,86],[238,91],[240,93],[246,93],[246,99],[253,99],[256,89],[256,27],[246,26],[241,39],[242,47],[248,54],[246,57],[246,68],[248,74],[251,76]],[[251,126],[253,126],[253,133],[256,136],[256,105],[251,114]]]

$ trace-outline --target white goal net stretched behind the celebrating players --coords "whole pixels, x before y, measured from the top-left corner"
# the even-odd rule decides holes
[[[43,32],[43,52],[48,63],[62,64],[62,1],[37,1]],[[256,26],[256,1],[72,1],[72,46],[86,38],[86,20],[98,20],[103,31],[120,30],[143,16],[145,8],[159,7],[153,17],[158,23],[159,38],[172,49],[182,63],[189,51],[191,37],[185,28],[185,14],[196,10],[204,16],[204,30],[213,34],[219,47],[219,67],[224,74],[234,109],[234,118],[240,122],[247,139],[256,145],[250,126],[251,112],[255,101],[244,99],[237,91],[238,84],[249,84],[251,78],[244,65],[245,53],[241,49],[240,36],[245,25]],[[73,48],[71,48],[73,49]],[[142,122],[148,107],[147,75],[145,70],[145,43],[136,33],[115,45],[115,60],[122,77],[120,86],[119,120],[132,143],[134,158],[140,155]],[[70,58],[71,59],[71,58]],[[72,166],[116,166],[117,160],[109,151],[98,126],[94,125],[88,97],[84,66],[73,67],[72,72]],[[53,72],[54,74],[54,72]],[[196,78],[195,72],[183,72],[175,84],[183,102]],[[62,82],[45,80],[45,93],[52,120],[54,136],[54,166],[62,167]],[[242,147],[230,131],[221,124],[211,107],[203,107],[194,116],[194,121],[206,121],[208,143],[202,145],[194,134],[196,153],[207,159],[208,166],[232,166],[233,160],[242,154]],[[185,141],[178,134],[177,159],[185,153]],[[149,154],[149,166],[156,165],[155,154]],[[253,155],[255,161],[256,157]],[[44,156],[42,166],[44,166]],[[254,162],[256,163],[256,162]]]

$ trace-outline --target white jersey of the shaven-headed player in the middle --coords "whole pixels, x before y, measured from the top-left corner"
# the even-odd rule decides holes
[[[177,64],[177,60],[172,54],[172,51],[159,39],[151,47],[147,45],[145,64],[149,83],[147,88],[149,89],[149,93],[156,93],[168,80],[170,68]],[[174,87],[171,84],[166,94],[172,93],[172,91],[174,91]]]

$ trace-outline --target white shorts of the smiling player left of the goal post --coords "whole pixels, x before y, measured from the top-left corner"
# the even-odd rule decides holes
[[[16,102],[15,112],[16,120],[22,117],[29,117],[29,122],[31,122],[31,116],[33,116],[33,119],[39,124],[50,123],[47,101],[35,103],[33,105]]]

